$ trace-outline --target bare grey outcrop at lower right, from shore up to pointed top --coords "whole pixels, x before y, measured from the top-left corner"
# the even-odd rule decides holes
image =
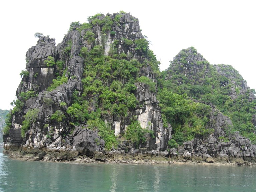
[[[256,145],[242,137],[239,132],[231,133],[233,125],[229,117],[223,115],[212,106],[210,121],[206,129],[213,130],[211,134],[203,139],[193,139],[183,143],[178,148],[180,157],[185,160],[197,162],[214,162],[213,158],[226,163],[245,164],[245,161],[255,162]],[[220,138],[229,138],[228,142],[221,141]],[[170,152],[173,156],[173,152]],[[174,155],[176,156],[176,155]],[[240,161],[237,162],[240,158]]]

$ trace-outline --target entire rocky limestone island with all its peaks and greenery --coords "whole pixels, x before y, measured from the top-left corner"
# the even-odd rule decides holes
[[[233,67],[210,65],[190,47],[160,72],[138,19],[122,11],[72,22],[57,46],[38,37],[3,136],[6,153],[255,162],[254,90]]]

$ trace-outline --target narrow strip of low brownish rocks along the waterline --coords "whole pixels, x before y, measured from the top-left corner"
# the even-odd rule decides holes
[[[229,162],[221,161],[218,158],[212,158],[206,154],[203,157],[192,155],[190,159],[186,159],[184,155],[171,156],[170,153],[160,152],[156,154],[120,154],[119,152],[109,152],[104,154],[97,152],[93,156],[76,155],[75,153],[66,152],[43,152],[27,153],[24,151],[4,150],[4,154],[8,154],[9,158],[23,161],[45,161],[45,162],[61,162],[61,163],[106,163],[106,164],[186,164],[186,165],[246,165],[254,166],[255,163],[244,161],[243,158],[232,158]],[[72,157],[73,155],[73,157]],[[185,158],[184,158],[185,157]]]

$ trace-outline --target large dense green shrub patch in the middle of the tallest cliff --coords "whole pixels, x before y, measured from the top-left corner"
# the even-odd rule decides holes
[[[95,95],[102,114],[127,116],[128,110],[137,105],[131,91],[136,89],[134,83],[141,64],[137,60],[103,56],[101,47],[94,46],[85,66],[82,96],[88,99],[88,105],[91,105],[90,97]]]

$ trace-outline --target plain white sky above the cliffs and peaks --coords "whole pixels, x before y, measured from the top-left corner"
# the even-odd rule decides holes
[[[139,19],[160,70],[188,47],[211,64],[232,65],[256,90],[256,1],[254,0],[8,0],[0,2],[0,109],[10,109],[25,69],[25,54],[40,32],[61,42],[73,21],[87,22],[96,13],[123,10]]]

